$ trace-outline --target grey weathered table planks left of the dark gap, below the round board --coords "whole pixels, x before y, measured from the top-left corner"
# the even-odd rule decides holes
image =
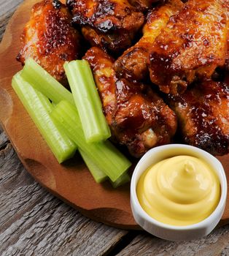
[[[4,133],[0,148],[0,255],[104,255],[125,236],[40,187]]]

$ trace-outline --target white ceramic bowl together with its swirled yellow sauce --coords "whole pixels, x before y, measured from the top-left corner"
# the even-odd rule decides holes
[[[136,222],[154,236],[184,241],[208,235],[220,222],[227,199],[220,161],[194,146],[150,149],[131,178]]]

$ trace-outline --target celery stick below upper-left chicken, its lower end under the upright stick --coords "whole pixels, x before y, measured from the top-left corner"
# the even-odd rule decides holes
[[[35,89],[42,92],[44,96],[58,103],[62,99],[74,105],[74,99],[70,91],[61,85],[55,78],[52,77],[33,59],[26,59],[26,64],[23,67],[21,76],[24,80],[31,84]]]

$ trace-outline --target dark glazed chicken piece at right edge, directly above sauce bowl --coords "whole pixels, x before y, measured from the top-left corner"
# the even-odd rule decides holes
[[[171,96],[185,143],[214,155],[229,152],[229,76],[224,82],[205,80],[184,94]]]

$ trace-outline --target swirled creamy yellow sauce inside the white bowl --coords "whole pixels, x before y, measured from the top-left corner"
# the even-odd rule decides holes
[[[152,218],[169,225],[201,222],[220,201],[220,181],[201,159],[177,156],[149,167],[136,188],[139,203]]]

